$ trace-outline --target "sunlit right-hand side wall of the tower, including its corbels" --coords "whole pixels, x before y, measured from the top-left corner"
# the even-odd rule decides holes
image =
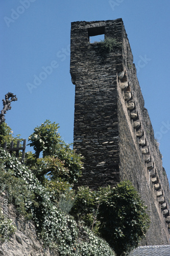
[[[120,179],[133,182],[150,211],[150,230],[141,244],[169,244],[169,183],[124,28],[123,42],[124,77],[117,77]]]

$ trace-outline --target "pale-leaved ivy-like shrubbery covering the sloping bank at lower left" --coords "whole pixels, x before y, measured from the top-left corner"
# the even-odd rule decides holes
[[[106,242],[96,238],[88,230],[90,242],[79,239],[76,221],[61,211],[63,206],[55,205],[55,194],[48,189],[54,181],[48,180],[46,181],[48,185],[43,186],[27,166],[21,164],[17,158],[2,148],[0,148],[0,156],[0,188],[6,191],[8,202],[14,203],[20,214],[29,215],[32,218],[38,237],[43,240],[44,246],[57,248],[63,256],[115,255]],[[71,195],[71,193],[74,194],[73,191],[70,191],[70,194],[67,191],[65,195]],[[3,223],[0,224],[0,230],[1,228]],[[13,229],[10,230],[13,231]],[[93,249],[92,246],[94,246]]]

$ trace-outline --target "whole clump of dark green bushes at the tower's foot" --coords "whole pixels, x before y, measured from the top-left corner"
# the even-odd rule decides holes
[[[132,183],[123,181],[98,191],[79,188],[71,214],[104,238],[117,255],[126,255],[147,232],[146,208]]]

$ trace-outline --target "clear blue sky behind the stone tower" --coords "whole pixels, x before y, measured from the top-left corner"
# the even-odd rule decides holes
[[[28,140],[34,127],[50,119],[60,124],[66,143],[73,142],[75,100],[70,24],[123,18],[135,65],[147,58],[137,76],[170,179],[169,0],[5,0],[0,10],[0,98],[7,92],[18,98],[6,122]]]

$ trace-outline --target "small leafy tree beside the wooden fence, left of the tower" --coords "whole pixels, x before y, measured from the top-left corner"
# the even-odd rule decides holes
[[[35,156],[26,155],[27,165],[34,171],[39,180],[46,178],[73,184],[81,176],[82,156],[76,154],[58,133],[58,124],[46,120],[34,129],[29,143],[35,150]],[[43,157],[39,158],[42,152]]]

